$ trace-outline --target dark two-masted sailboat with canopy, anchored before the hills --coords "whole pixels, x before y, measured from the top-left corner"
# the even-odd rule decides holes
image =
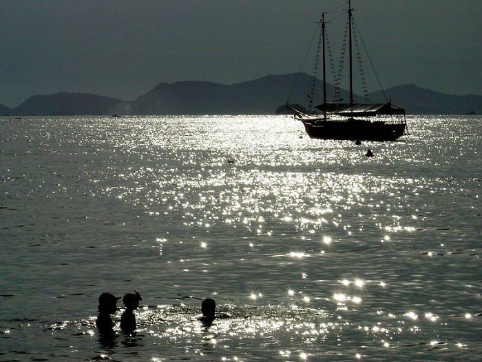
[[[321,19],[322,61],[323,61],[323,103],[315,108],[321,114],[313,114],[305,110],[298,110],[289,104],[288,108],[295,113],[295,119],[302,121],[306,133],[315,139],[337,139],[352,141],[395,141],[408,134],[405,110],[393,105],[390,100],[386,103],[355,103],[353,97],[353,8],[348,1],[348,61],[350,72],[350,101],[342,103],[342,99],[334,102],[326,101],[326,21],[325,13]],[[317,54],[317,59],[319,53]],[[342,56],[342,59],[344,56]],[[314,67],[317,69],[317,64]],[[313,80],[315,80],[315,75]],[[341,74],[339,74],[341,79]],[[339,80],[338,80],[339,83]],[[314,85],[314,81],[313,81]],[[337,88],[339,92],[339,88]],[[313,101],[314,89],[308,95]],[[368,96],[368,92],[366,92]]]

